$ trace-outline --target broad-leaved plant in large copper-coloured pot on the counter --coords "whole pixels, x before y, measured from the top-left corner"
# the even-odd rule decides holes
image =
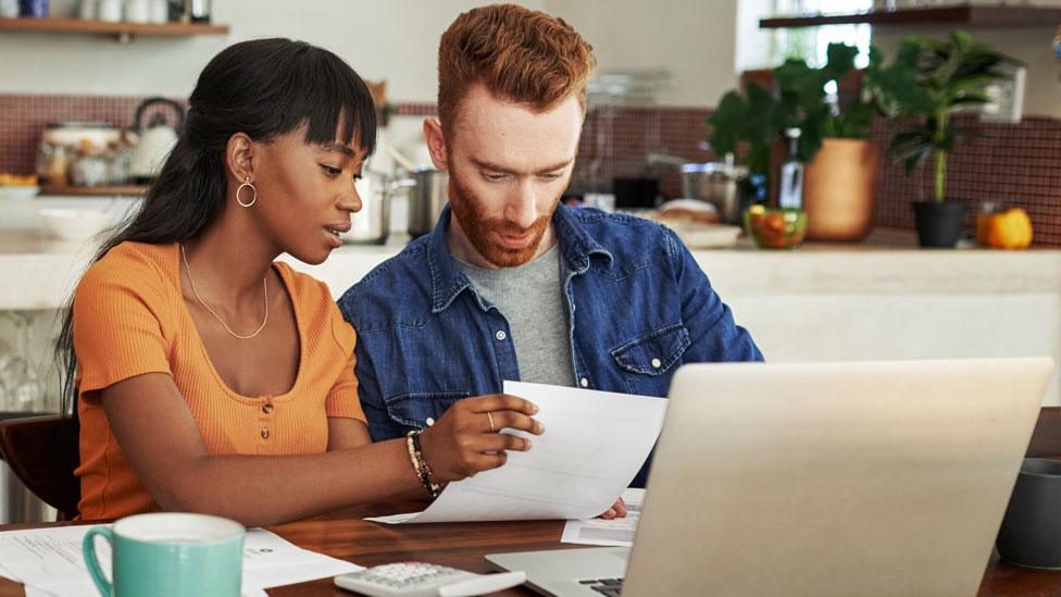
[[[756,84],[744,95],[731,91],[708,121],[716,152],[746,142],[749,170],[767,178],[778,139],[789,127],[800,129],[810,239],[859,240],[869,233],[881,171],[881,148],[870,139],[873,120],[896,110],[897,90],[918,92],[916,71],[909,64],[886,65],[871,48],[869,66],[857,71],[858,53],[852,46],[831,43],[821,69],[788,60],[772,71],[773,94]],[[826,94],[827,87],[836,92]]]

